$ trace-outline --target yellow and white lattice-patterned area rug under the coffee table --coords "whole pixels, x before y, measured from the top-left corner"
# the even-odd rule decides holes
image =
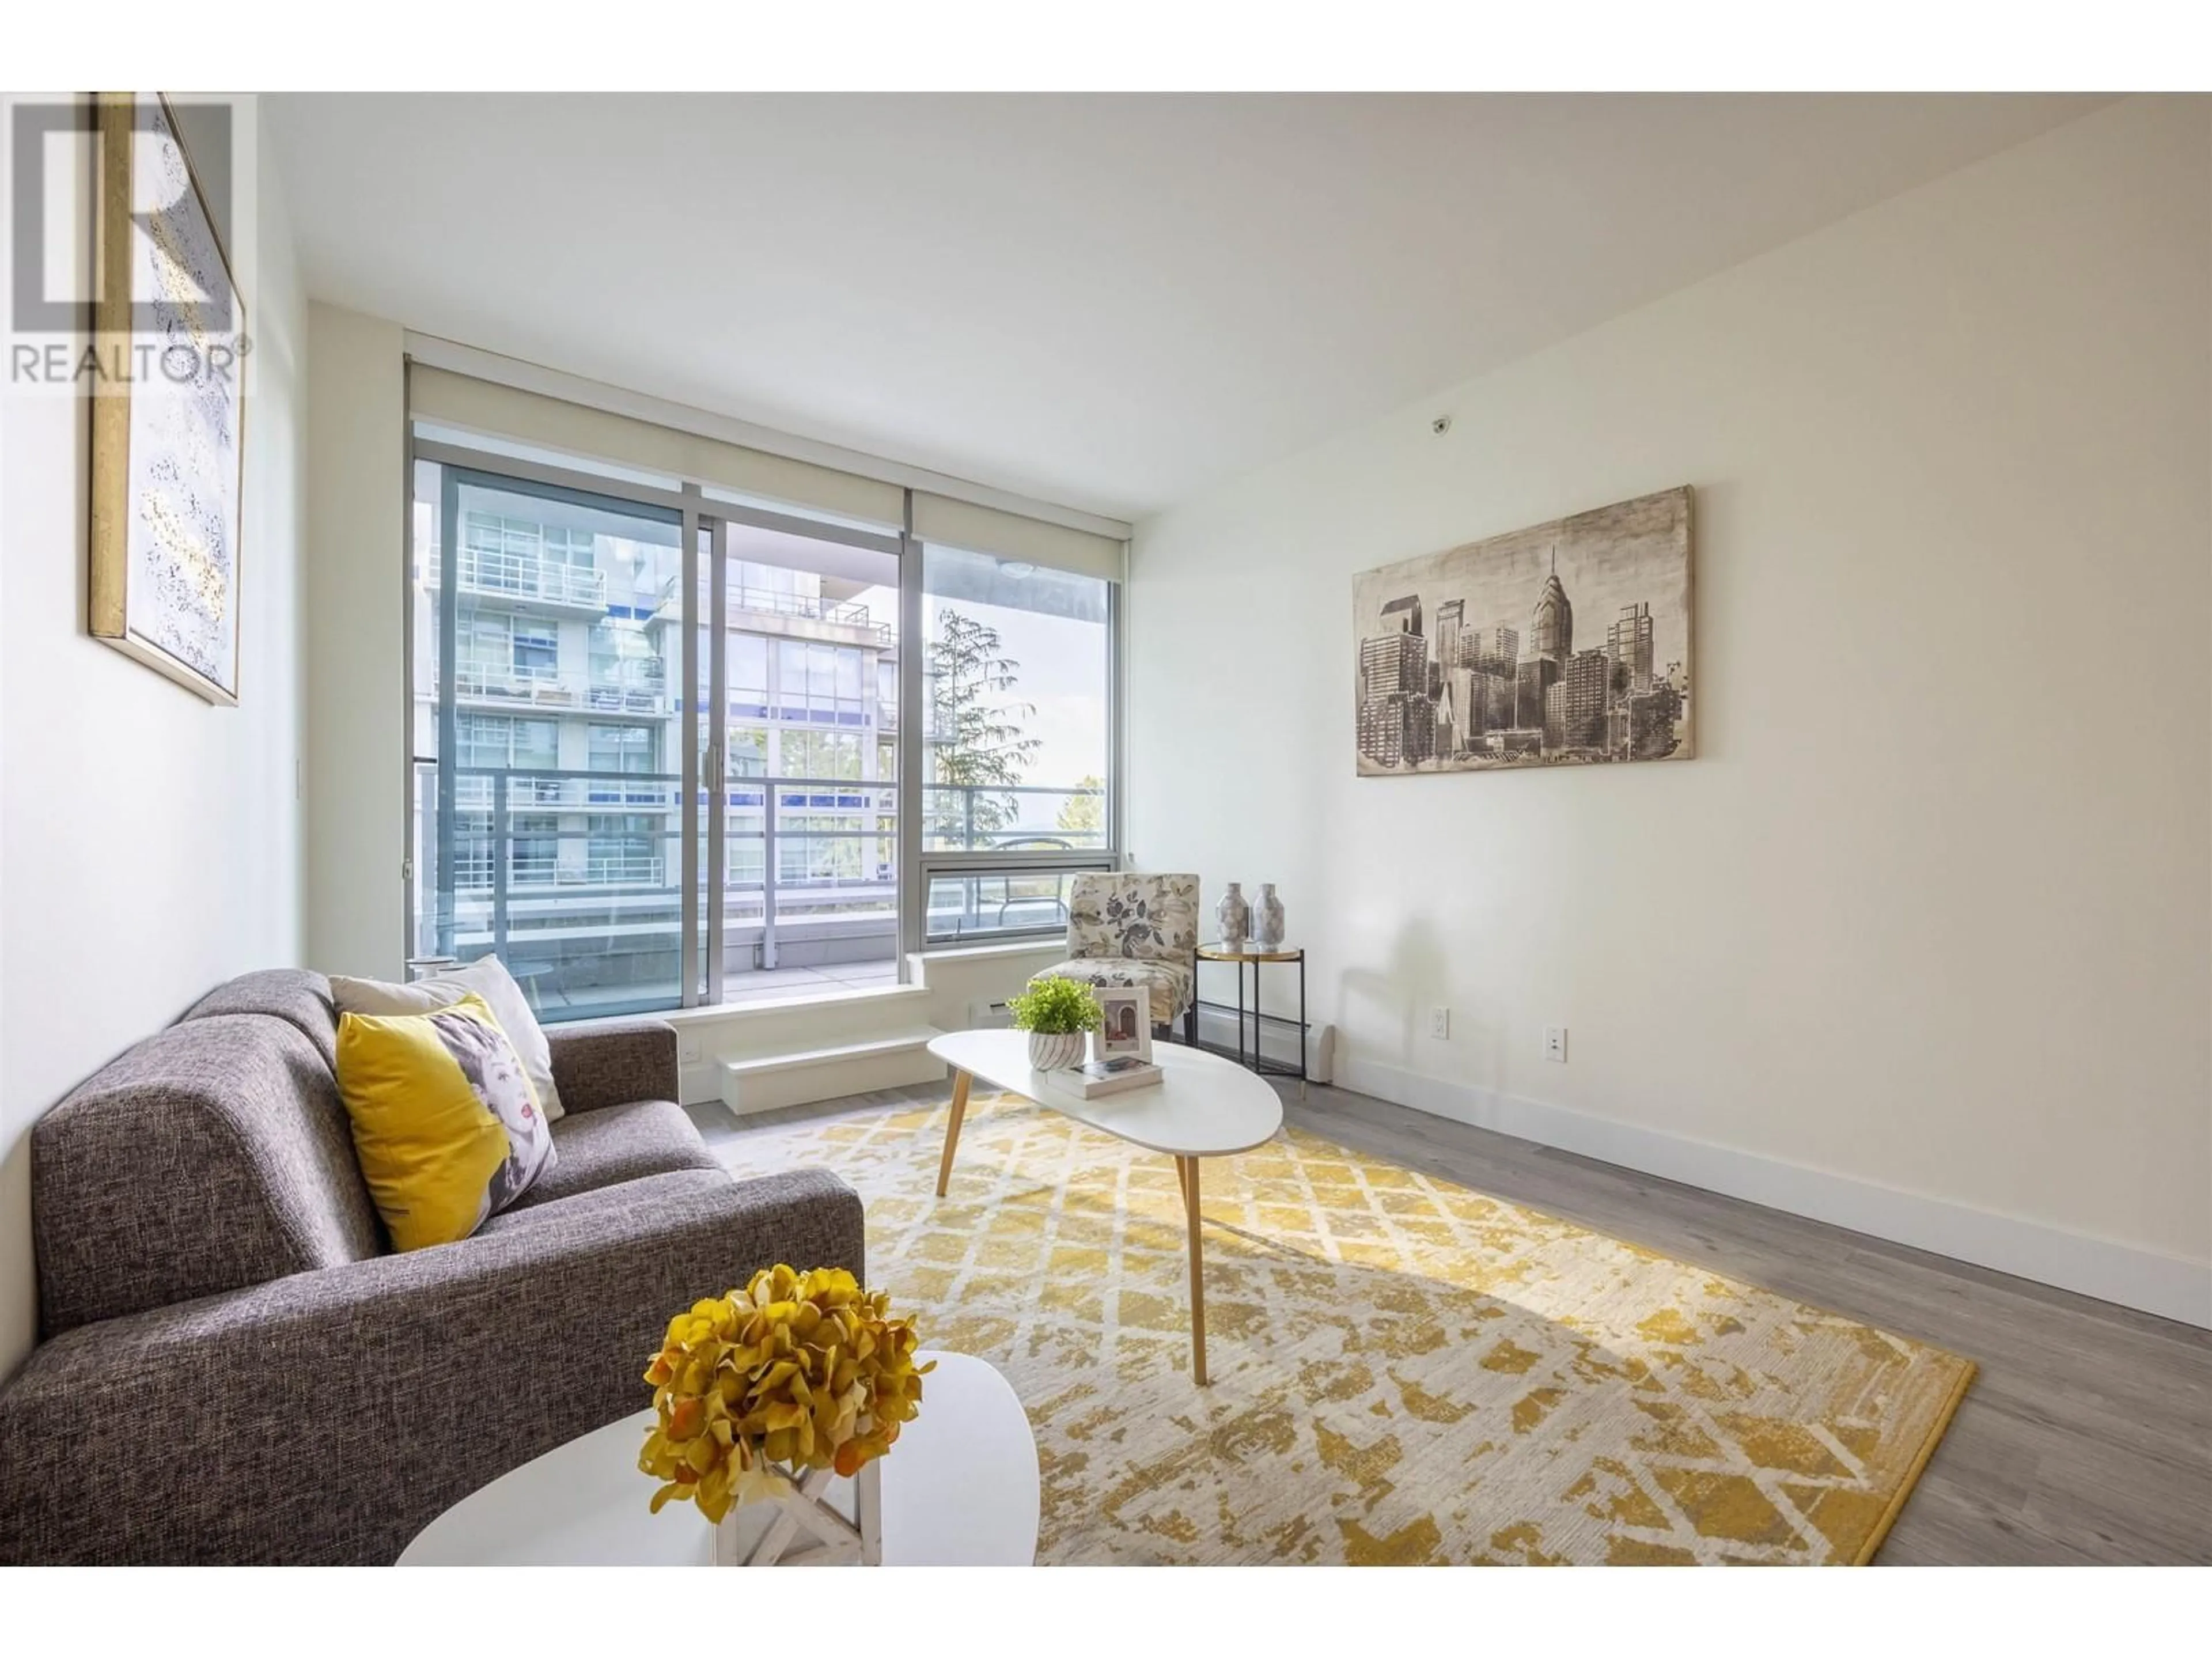
[[[1172,1159],[978,1097],[938,1199],[945,1117],[874,1108],[723,1157],[845,1177],[869,1287],[1006,1374],[1040,1562],[1867,1562],[1973,1378],[1290,1130],[1206,1159],[1199,1389]]]

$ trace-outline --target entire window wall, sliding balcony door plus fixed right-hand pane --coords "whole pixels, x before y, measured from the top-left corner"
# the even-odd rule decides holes
[[[1066,927],[1117,858],[1110,582],[524,449],[418,429],[416,956],[564,1020]]]

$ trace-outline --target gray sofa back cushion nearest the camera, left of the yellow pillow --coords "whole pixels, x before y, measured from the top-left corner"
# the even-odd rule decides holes
[[[338,1084],[290,1020],[199,1013],[31,1128],[46,1336],[383,1250]]]

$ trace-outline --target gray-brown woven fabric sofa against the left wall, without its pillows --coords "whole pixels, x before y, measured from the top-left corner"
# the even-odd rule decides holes
[[[44,1340],[0,1387],[0,1562],[392,1562],[650,1405],[675,1310],[776,1261],[865,1270],[843,1181],[714,1164],[668,1024],[551,1044],[557,1168],[409,1254],[354,1161],[316,973],[219,987],[46,1113]]]

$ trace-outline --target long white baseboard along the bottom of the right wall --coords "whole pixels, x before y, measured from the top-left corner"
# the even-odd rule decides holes
[[[2035,1279],[2059,1290],[2212,1327],[2212,1267],[2086,1232],[1975,1210],[1924,1192],[1829,1175],[1803,1164],[1739,1152],[1537,1099],[1422,1077],[1400,1066],[1340,1055],[1336,1084],[1396,1106],[1491,1128],[1562,1152],[1725,1192],[1772,1210],[1931,1250],[1938,1256]]]

